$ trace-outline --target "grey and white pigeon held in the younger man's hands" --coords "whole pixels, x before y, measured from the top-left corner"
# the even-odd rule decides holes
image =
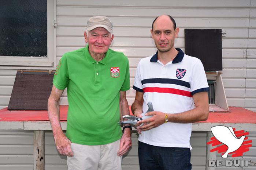
[[[154,109],[153,109],[153,105],[152,105],[152,103],[150,101],[148,102],[147,105],[148,105],[148,111],[146,111],[144,113],[141,113],[142,117],[136,117],[136,116],[133,116],[133,115],[125,115],[125,116],[123,116],[123,118],[128,119],[128,120],[126,120],[126,121],[119,121],[118,123],[119,124],[136,125],[138,121],[149,119],[150,117],[152,117],[152,115],[151,116],[145,116],[145,114],[147,112],[154,111]],[[141,125],[143,125],[143,123]]]

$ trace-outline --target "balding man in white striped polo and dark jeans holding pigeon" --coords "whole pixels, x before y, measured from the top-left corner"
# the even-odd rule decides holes
[[[152,24],[156,54],[141,59],[133,88],[134,115],[155,111],[139,121],[139,161],[141,170],[191,170],[189,140],[192,122],[207,120],[209,86],[200,59],[175,49],[179,28],[169,15],[158,16]],[[146,124],[147,123],[147,124]]]

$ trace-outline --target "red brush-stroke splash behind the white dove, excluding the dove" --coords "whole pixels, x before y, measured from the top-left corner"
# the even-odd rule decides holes
[[[252,140],[248,140],[248,136],[246,135],[249,135],[249,132],[244,132],[244,130],[241,130],[241,131],[235,131],[235,128],[233,128],[234,132],[235,132],[235,136],[237,136],[237,138],[241,138],[241,136],[245,136],[246,138],[244,139],[244,142],[242,143],[242,145],[240,146],[240,148],[238,148],[236,151],[234,152],[230,152],[229,154],[232,154],[232,157],[241,157],[243,156],[243,153],[244,152],[247,152],[249,151],[249,147],[252,147]],[[219,140],[217,140],[215,137],[212,137],[211,138],[211,141],[207,142],[207,144],[212,144],[212,146],[217,146],[219,145],[218,147],[216,148],[213,148],[211,150],[211,152],[215,152],[215,151],[218,151],[218,153],[222,153],[222,155],[224,154],[224,152],[227,151],[228,147],[219,142]],[[222,145],[220,145],[222,144]]]

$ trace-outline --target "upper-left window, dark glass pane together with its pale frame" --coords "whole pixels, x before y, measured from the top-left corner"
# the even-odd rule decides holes
[[[54,1],[0,4],[0,66],[53,66]]]

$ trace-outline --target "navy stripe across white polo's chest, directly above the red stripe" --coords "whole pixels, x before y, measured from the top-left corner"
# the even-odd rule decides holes
[[[147,84],[147,83],[177,84],[177,85],[181,85],[181,86],[190,88],[189,82],[171,79],[171,78],[148,78],[148,79],[141,80],[142,85]]]

